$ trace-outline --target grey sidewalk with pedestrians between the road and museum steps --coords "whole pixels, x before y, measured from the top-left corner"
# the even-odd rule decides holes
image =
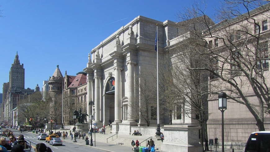
[[[58,132],[58,131],[57,131]],[[60,130],[61,132],[61,130]],[[36,134],[36,133],[35,133]],[[129,139],[130,137],[127,136],[127,140],[132,140]],[[133,137],[131,137],[133,138]],[[71,137],[68,137],[66,139],[63,139],[63,141],[69,142],[69,143],[74,143],[77,145],[82,145],[82,146],[88,146],[91,148],[95,148],[95,149],[99,149],[99,150],[104,150],[104,151],[108,151],[108,152],[119,152],[119,151],[133,151],[132,150],[132,146],[126,146],[126,145],[117,145],[117,144],[112,144],[112,143],[106,143],[106,142],[99,142],[99,141],[95,141],[94,137],[93,137],[93,146],[90,146],[90,138],[89,138],[89,145],[86,145],[86,141],[83,139],[76,139],[77,142],[73,142],[73,140],[71,140]],[[216,149],[212,148],[212,152],[215,152]],[[218,148],[217,152],[221,152],[222,149]],[[225,152],[232,152],[232,149],[224,149]],[[162,150],[155,150],[155,152],[162,152]],[[243,152],[243,150],[240,149],[234,149],[234,152]]]

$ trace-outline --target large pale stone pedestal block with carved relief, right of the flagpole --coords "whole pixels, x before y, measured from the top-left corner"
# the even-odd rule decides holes
[[[162,151],[203,152],[199,144],[199,125],[165,125]]]

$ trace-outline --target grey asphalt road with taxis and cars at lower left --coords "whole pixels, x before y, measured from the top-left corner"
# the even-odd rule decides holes
[[[2,129],[3,130],[3,129]],[[38,134],[33,134],[32,132],[27,132],[27,131],[24,131],[24,132],[20,132],[20,131],[17,131],[15,129],[10,129],[13,131],[13,134],[15,136],[18,136],[20,134],[23,134],[25,139],[26,140],[29,140],[33,143],[31,143],[31,146],[36,146],[36,144],[38,143],[44,143],[46,144],[48,147],[50,147],[52,149],[52,151],[54,152],[74,152],[74,151],[80,151],[80,152],[89,152],[89,151],[94,151],[94,152],[104,152],[104,150],[98,150],[98,149],[95,149],[95,148],[91,148],[91,147],[88,147],[88,146],[83,146],[83,145],[77,145],[77,144],[73,144],[73,143],[70,143],[70,142],[66,142],[66,141],[63,141],[63,145],[62,146],[58,146],[58,145],[49,145],[49,143],[45,142],[45,140],[38,140]],[[68,138],[70,139],[70,138]],[[8,141],[8,138],[7,138],[7,141]],[[28,143],[29,143],[28,141]],[[34,148],[32,149],[32,151],[34,151]]]

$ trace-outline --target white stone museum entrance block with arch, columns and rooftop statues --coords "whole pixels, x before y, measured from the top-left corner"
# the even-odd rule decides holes
[[[158,27],[158,28],[157,28]],[[147,123],[136,110],[143,106],[142,91],[138,86],[147,75],[147,81],[156,78],[157,52],[155,36],[158,29],[158,58],[164,62],[164,54],[169,49],[170,41],[178,36],[178,25],[166,20],[160,22],[144,16],[137,16],[127,25],[121,27],[99,45],[92,49],[89,62],[84,71],[87,73],[87,99],[94,101],[94,123],[98,127],[112,122],[113,133],[132,134],[131,126],[146,127]],[[162,65],[162,64],[161,64]],[[152,75],[152,74],[153,75]],[[151,102],[155,108],[148,107],[151,115],[150,127],[153,133],[157,127],[156,117],[156,80],[153,81],[155,97]],[[138,107],[137,107],[138,106]],[[91,107],[88,107],[91,108]],[[88,115],[91,115],[88,110]],[[181,111],[178,113],[181,113]],[[173,123],[193,123],[195,120],[182,115]],[[169,117],[160,116],[160,126],[169,124]],[[143,128],[140,130],[143,131]]]

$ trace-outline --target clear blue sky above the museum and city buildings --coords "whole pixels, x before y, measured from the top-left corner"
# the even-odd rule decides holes
[[[25,68],[25,88],[34,89],[52,76],[76,75],[86,67],[88,53],[137,16],[177,22],[176,14],[193,0],[1,0],[0,84],[9,81],[18,51]],[[208,0],[213,15],[216,0]]]

